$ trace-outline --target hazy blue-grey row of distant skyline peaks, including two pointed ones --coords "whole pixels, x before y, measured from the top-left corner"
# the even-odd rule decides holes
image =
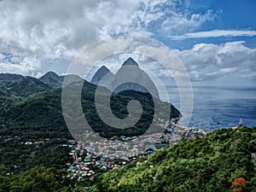
[[[102,66],[100,67],[93,78],[90,80],[92,84],[99,84],[104,78],[104,76],[108,74],[112,79],[112,84],[117,84],[120,79],[123,82],[127,82],[125,84],[119,85],[115,92],[119,92],[122,90],[137,90],[141,92],[150,92],[155,97],[159,98],[158,91],[153,83],[153,81],[148,77],[148,74],[145,73],[137,64],[137,61],[134,61],[131,57],[129,57],[126,61],[124,61],[123,65],[119,68],[119,71],[115,74],[110,72],[108,67]],[[72,79],[71,81],[80,81],[81,79],[77,75],[68,75],[68,79]],[[32,77],[23,77],[18,74],[10,74],[10,73],[1,73],[0,74],[0,88],[15,92],[22,92],[22,96],[27,96],[32,94],[32,92],[38,92],[36,90],[49,90],[50,88],[61,87],[64,82],[65,75],[59,76],[54,72],[45,73],[41,78],[35,79]],[[136,82],[136,83],[134,83]],[[29,86],[26,86],[28,85]],[[29,91],[26,91],[25,87],[30,87]],[[20,90],[21,89],[21,90]],[[150,91],[148,91],[150,90]]]

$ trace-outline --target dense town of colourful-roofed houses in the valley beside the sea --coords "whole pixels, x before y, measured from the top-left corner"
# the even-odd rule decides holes
[[[69,140],[68,146],[73,148],[70,153],[73,157],[73,164],[67,164],[69,166],[68,171],[70,171],[68,177],[79,180],[94,179],[97,172],[119,169],[125,166],[127,162],[136,160],[138,157],[147,157],[155,150],[170,143],[177,143],[182,138],[205,137],[209,132],[172,123],[167,126],[163,133],[140,137],[102,138],[102,140],[95,140],[94,142],[90,139],[83,142]],[[93,135],[90,134],[95,133],[85,132],[84,134],[87,138],[92,138]],[[148,143],[147,148],[143,146],[145,143]]]

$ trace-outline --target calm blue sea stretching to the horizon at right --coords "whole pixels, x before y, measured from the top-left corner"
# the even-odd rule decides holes
[[[172,104],[180,108],[177,87],[168,87]],[[194,108],[189,126],[214,130],[243,124],[256,126],[256,87],[193,87]],[[183,112],[186,118],[187,112]],[[183,123],[181,119],[180,124]]]

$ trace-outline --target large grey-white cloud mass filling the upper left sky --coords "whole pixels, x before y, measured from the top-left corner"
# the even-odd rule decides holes
[[[0,53],[72,61],[85,46],[101,38],[131,32],[150,35],[147,26],[163,16],[157,6],[166,2],[3,0]]]

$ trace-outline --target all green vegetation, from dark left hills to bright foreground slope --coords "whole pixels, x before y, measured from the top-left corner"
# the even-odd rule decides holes
[[[69,179],[65,164],[71,162],[67,139],[73,137],[61,112],[60,81],[44,81],[0,74],[0,191],[255,191],[256,129],[221,129],[207,137],[183,139],[161,148],[148,159],[124,168],[98,172],[93,180]],[[61,79],[59,79],[61,80]],[[84,82],[84,115],[104,137],[133,136],[148,128],[154,113],[152,97],[137,91],[113,94],[111,108],[127,116],[132,99],[143,105],[137,125],[125,132],[104,125],[96,114],[96,85]],[[179,115],[170,105],[170,118]],[[142,163],[137,166],[137,162]]]

